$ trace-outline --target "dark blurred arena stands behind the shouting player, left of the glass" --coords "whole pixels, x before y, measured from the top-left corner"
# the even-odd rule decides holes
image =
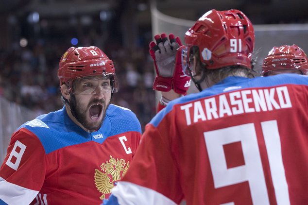
[[[61,56],[71,46],[94,45],[116,68],[120,91],[112,103],[134,111],[144,127],[156,106],[148,54],[152,34],[151,24],[137,24],[136,15],[148,10],[148,2],[26,1],[4,2],[11,10],[3,10],[0,18],[5,22],[5,33],[0,34],[0,97],[31,109],[35,116],[61,108]],[[86,4],[91,4],[88,9]]]

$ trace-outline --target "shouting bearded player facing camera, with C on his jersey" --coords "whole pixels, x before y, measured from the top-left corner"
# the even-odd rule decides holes
[[[0,169],[0,204],[99,205],[130,166],[141,137],[129,109],[110,104],[115,67],[97,47],[59,63],[64,107],[21,125]]]

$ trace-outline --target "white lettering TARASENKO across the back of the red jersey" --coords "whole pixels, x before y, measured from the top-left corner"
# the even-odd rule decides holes
[[[274,96],[278,95],[278,101]],[[271,111],[292,107],[287,86],[270,89],[246,89],[195,101],[181,106],[187,125],[199,120],[212,120],[242,113]],[[191,114],[193,110],[193,114]]]

